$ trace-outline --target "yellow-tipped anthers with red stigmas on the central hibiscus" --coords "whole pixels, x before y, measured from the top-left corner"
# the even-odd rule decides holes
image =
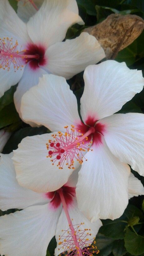
[[[64,162],[69,169],[75,169],[74,160],[76,159],[80,164],[83,163],[83,158],[85,161],[87,159],[84,157],[86,151],[92,151],[90,149],[90,144],[92,141],[88,142],[88,137],[80,133],[80,130],[77,130],[74,125],[71,125],[69,131],[68,126],[64,126],[66,131],[62,133],[58,131],[58,134],[53,134],[52,137],[54,140],[49,140],[49,143],[46,143],[47,150],[49,150],[49,155],[52,165],[55,161],[59,161],[57,166],[59,169],[63,169]]]

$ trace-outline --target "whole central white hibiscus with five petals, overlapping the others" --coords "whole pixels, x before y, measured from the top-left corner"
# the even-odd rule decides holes
[[[36,192],[53,191],[82,164],[76,186],[80,211],[90,221],[116,219],[128,203],[128,164],[144,175],[144,115],[114,113],[142,90],[144,78],[109,60],[87,67],[84,80],[83,122],[63,77],[45,75],[23,95],[23,119],[54,133],[22,140],[13,157],[17,179]]]

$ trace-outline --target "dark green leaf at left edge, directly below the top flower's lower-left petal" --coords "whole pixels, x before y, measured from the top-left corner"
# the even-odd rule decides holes
[[[7,106],[8,104],[10,104],[11,102],[13,102],[13,94],[16,91],[16,85],[12,86],[8,91],[6,91],[3,95],[3,97],[0,98],[0,111]]]

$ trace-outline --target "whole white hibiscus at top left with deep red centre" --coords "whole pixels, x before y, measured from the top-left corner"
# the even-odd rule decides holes
[[[0,97],[18,83],[14,103],[20,116],[21,97],[43,74],[69,79],[105,57],[88,33],[62,42],[75,23],[84,24],[75,0],[44,0],[27,24],[8,0],[0,1]]]

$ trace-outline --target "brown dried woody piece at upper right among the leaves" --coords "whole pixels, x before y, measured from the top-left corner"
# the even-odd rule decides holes
[[[143,29],[144,20],[137,15],[111,14],[101,23],[83,31],[95,36],[107,59],[115,59],[118,52],[130,45]]]

